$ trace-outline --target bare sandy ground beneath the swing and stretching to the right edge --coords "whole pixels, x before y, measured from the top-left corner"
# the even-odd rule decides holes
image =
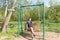
[[[35,32],[36,36],[34,40],[43,40],[42,32]],[[32,40],[31,35],[25,35],[25,37],[21,36],[19,40]],[[60,33],[55,32],[46,32],[45,40],[60,40]]]

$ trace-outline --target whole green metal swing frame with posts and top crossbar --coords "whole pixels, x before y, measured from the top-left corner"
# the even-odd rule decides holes
[[[45,13],[44,13],[44,3],[42,3],[42,4],[32,4],[32,5],[23,5],[23,6],[21,6],[20,4],[18,5],[18,36],[20,36],[20,34],[21,34],[21,32],[20,32],[20,30],[22,31],[22,9],[21,8],[23,8],[23,7],[32,7],[32,6],[42,6],[43,7],[43,13],[42,13],[42,15],[43,15],[43,40],[45,40]]]

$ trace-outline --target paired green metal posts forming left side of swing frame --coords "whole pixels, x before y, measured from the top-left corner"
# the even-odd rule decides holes
[[[21,6],[18,6],[18,36],[23,33]]]

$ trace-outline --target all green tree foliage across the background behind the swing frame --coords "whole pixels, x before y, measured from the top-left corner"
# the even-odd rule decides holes
[[[9,6],[8,8],[12,6],[13,0],[8,0],[9,1]],[[11,3],[10,3],[11,2]],[[21,5],[26,5],[26,4],[33,4],[32,1],[27,1],[27,0],[20,0],[19,1]],[[54,2],[56,5],[52,4],[53,1],[50,0],[50,7],[45,6],[44,11],[45,11],[45,18],[49,22],[60,22],[60,5],[57,5],[56,2]],[[37,1],[36,4],[40,4],[41,1]],[[53,6],[52,6],[53,5]],[[22,8],[22,20],[26,20],[28,17],[31,17],[33,20],[38,20],[42,19],[42,6],[39,7],[26,7]],[[0,8],[0,22],[4,19],[4,11],[5,7]],[[15,8],[15,11],[12,14],[12,17],[10,21],[18,21],[18,8]]]

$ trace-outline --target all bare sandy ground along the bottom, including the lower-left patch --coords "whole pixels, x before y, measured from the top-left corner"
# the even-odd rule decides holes
[[[35,32],[36,36],[34,40],[43,40],[42,32]],[[0,40],[8,40],[7,36],[0,37]],[[21,35],[20,37],[12,36],[13,40],[32,40],[30,34]],[[45,40],[60,40],[60,33],[46,32]]]

